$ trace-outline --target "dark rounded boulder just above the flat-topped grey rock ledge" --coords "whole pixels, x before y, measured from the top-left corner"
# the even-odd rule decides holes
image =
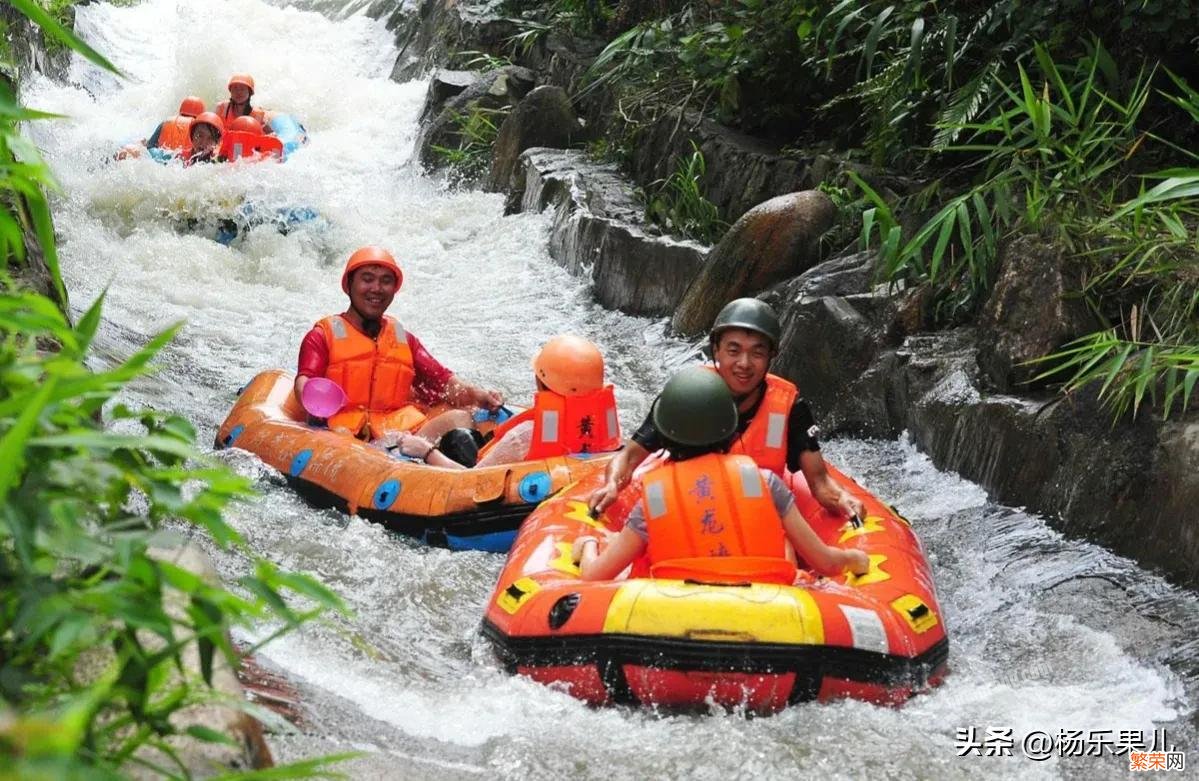
[[[508,186],[520,152],[534,146],[570,146],[579,130],[571,98],[560,86],[538,86],[524,97],[500,126],[487,188]]]

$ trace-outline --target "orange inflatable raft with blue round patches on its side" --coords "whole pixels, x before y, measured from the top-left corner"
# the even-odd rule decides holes
[[[308,501],[375,521],[439,547],[506,552],[546,497],[590,474],[610,453],[476,469],[390,456],[347,434],[307,425],[294,374],[267,371],[242,389],[216,446],[240,447],[278,469]]]

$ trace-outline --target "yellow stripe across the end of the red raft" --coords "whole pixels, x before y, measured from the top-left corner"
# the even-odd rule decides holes
[[[603,631],[746,643],[824,643],[824,623],[812,595],[770,583],[728,587],[631,581],[613,597]]]

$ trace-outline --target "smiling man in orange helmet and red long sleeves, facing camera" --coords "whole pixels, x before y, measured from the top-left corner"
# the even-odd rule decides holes
[[[311,377],[332,379],[345,391],[345,407],[329,427],[355,437],[390,443],[404,455],[435,465],[451,465],[436,440],[452,428],[471,428],[474,416],[452,409],[427,417],[435,403],[498,409],[504,397],[462,382],[434,359],[421,341],[384,314],[403,284],[396,259],[382,247],[362,247],[342,272],[349,308],[323,318],[300,346],[295,392],[301,397]]]

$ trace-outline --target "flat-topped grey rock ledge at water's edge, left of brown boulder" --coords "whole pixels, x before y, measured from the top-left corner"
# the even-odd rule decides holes
[[[526,150],[511,191],[511,210],[554,210],[550,257],[589,276],[608,308],[667,314],[703,264],[701,245],[646,233],[641,206],[616,167],[583,152]]]

